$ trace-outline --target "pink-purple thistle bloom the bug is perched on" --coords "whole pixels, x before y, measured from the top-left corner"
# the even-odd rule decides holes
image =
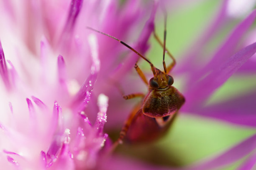
[[[181,6],[176,1],[166,3],[167,9]],[[231,0],[223,2],[210,27],[178,59],[172,73],[174,81],[178,80],[176,77],[186,77],[178,80],[183,85],[177,85],[186,97],[180,114],[255,127],[255,92],[219,103],[207,102],[235,72],[255,76],[255,32],[249,28],[256,11],[247,17],[243,13],[234,16],[230,4],[233,4]],[[143,91],[145,87],[140,83],[130,86],[138,79],[125,76],[138,60],[136,54],[120,58],[127,55],[125,47],[85,29],[90,26],[133,42],[131,46],[145,54],[155,29],[158,5],[158,2],[143,4],[138,0],[128,0],[120,6],[112,1],[93,0],[0,2],[1,167],[159,169],[115,155],[105,160],[111,145],[108,134],[103,132],[107,109],[106,128],[110,131],[120,129],[133,107],[130,102],[120,100],[113,82],[121,82],[125,92]],[[205,54],[212,39],[233,17],[241,16],[245,19],[240,19],[220,45]],[[241,107],[234,107],[238,103]],[[216,168],[252,152],[241,169],[250,167],[255,163],[254,143],[253,135],[223,155],[188,168]]]

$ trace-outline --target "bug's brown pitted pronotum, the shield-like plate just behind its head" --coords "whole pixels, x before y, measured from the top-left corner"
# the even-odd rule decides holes
[[[172,86],[165,91],[152,90],[145,97],[142,112],[149,117],[164,117],[174,114],[184,102],[183,95]]]

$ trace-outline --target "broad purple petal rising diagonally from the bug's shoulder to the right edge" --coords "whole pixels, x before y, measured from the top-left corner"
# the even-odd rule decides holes
[[[213,70],[207,77],[191,85],[184,94],[186,103],[182,109],[196,108],[206,102],[214,90],[222,85],[228,78],[238,70],[248,58],[256,52],[256,42],[244,47],[226,62]],[[195,98],[196,96],[196,98]]]

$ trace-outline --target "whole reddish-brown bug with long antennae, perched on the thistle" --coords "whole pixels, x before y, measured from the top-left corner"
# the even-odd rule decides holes
[[[154,37],[164,48],[164,72],[154,67],[154,65],[148,59],[146,59],[146,57],[141,55],[138,51],[125,42],[93,28],[88,27],[88,29],[99,32],[103,35],[107,35],[108,37],[111,37],[128,47],[151,65],[151,70],[154,75],[154,77],[152,77],[148,82],[146,76],[138,67],[137,62],[135,63],[134,67],[138,72],[138,75],[148,86],[148,94],[143,95],[142,93],[133,93],[130,95],[123,95],[123,98],[126,100],[134,97],[144,98],[141,104],[136,106],[128,116],[120,132],[118,140],[114,143],[114,146],[123,143],[123,140],[128,141],[129,143],[139,143],[160,138],[162,135],[164,135],[164,133],[166,133],[169,126],[172,124],[174,117],[177,115],[178,110],[185,102],[183,95],[172,86],[174,83],[173,77],[168,75],[168,72],[173,69],[176,62],[172,54],[166,49],[166,15],[164,20],[164,43],[161,42],[154,30]],[[172,63],[168,65],[168,67],[166,67],[164,61],[166,52],[167,55],[172,58]]]

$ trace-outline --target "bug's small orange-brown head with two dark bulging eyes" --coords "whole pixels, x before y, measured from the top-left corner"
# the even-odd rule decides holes
[[[148,83],[151,89],[163,89],[173,84],[172,76],[165,74],[157,68],[155,68],[155,72],[156,76],[152,77]]]

